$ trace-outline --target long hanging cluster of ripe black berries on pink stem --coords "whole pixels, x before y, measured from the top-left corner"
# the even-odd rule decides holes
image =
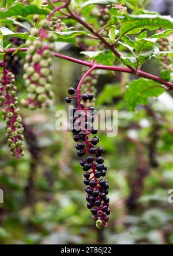
[[[92,126],[94,120],[93,107],[87,107],[86,102],[92,100],[89,94],[81,94],[81,85],[85,78],[94,69],[92,67],[78,83],[77,90],[69,88],[69,97],[66,98],[67,103],[77,100],[77,108],[72,108],[70,123],[73,124],[73,140],[77,142],[77,155],[82,157],[80,164],[84,170],[84,184],[87,186],[85,191],[87,208],[91,209],[92,218],[96,222],[96,227],[107,226],[110,214],[108,195],[108,182],[104,178],[107,167],[104,159],[101,157],[103,148],[98,147],[99,138],[96,136],[97,129]],[[92,138],[89,136],[93,134]]]

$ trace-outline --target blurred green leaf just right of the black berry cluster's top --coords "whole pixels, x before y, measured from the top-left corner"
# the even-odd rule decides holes
[[[114,97],[121,96],[121,85],[118,83],[111,83],[104,86],[103,90],[97,97],[97,105],[101,105],[104,103],[112,103]]]

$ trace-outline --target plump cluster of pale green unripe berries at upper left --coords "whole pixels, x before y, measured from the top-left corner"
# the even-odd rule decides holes
[[[54,35],[47,32],[48,23],[42,20],[40,30],[32,28],[33,36],[39,39],[26,41],[28,46],[26,63],[24,64],[24,80],[28,91],[27,100],[22,100],[21,104],[30,109],[49,107],[54,93],[52,92],[52,64],[54,49]],[[48,41],[49,43],[46,43]]]

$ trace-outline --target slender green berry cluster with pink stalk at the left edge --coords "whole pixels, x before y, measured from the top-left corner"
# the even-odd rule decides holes
[[[19,114],[18,97],[16,96],[17,87],[14,85],[14,75],[3,67],[3,75],[0,83],[0,104],[2,107],[2,116],[6,125],[7,144],[13,156],[19,158],[24,155],[24,145],[22,135],[22,118]]]

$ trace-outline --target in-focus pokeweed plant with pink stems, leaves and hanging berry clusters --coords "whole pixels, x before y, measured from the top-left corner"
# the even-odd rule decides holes
[[[112,75],[126,72],[140,77],[126,87],[125,100],[130,111],[148,103],[149,97],[157,97],[173,87],[173,19],[145,10],[145,2],[148,3],[131,0],[7,0],[0,10],[0,23],[3,24],[0,28],[1,107],[7,144],[13,155],[18,157],[24,153],[23,128],[14,75],[6,70],[7,55],[27,52],[24,81],[28,97],[22,99],[21,104],[30,109],[51,105],[53,55],[85,67],[77,88],[69,88],[66,102],[73,100],[76,104],[71,109],[70,123],[73,139],[77,142],[77,155],[83,157],[80,164],[87,186],[87,207],[91,209],[97,228],[107,226],[110,209],[108,182],[103,178],[107,172],[101,157],[103,148],[96,146],[99,137],[95,136],[97,129],[92,126],[96,71],[111,71]],[[27,31],[18,30],[19,27]],[[18,47],[13,43],[9,45],[10,38],[21,38],[25,43]],[[54,42],[80,47],[85,60],[54,52]],[[151,58],[162,61],[160,76],[142,70],[142,65]],[[76,116],[78,111],[80,115]],[[75,127],[76,121],[83,125],[80,130]],[[91,134],[93,137],[89,138]]]

